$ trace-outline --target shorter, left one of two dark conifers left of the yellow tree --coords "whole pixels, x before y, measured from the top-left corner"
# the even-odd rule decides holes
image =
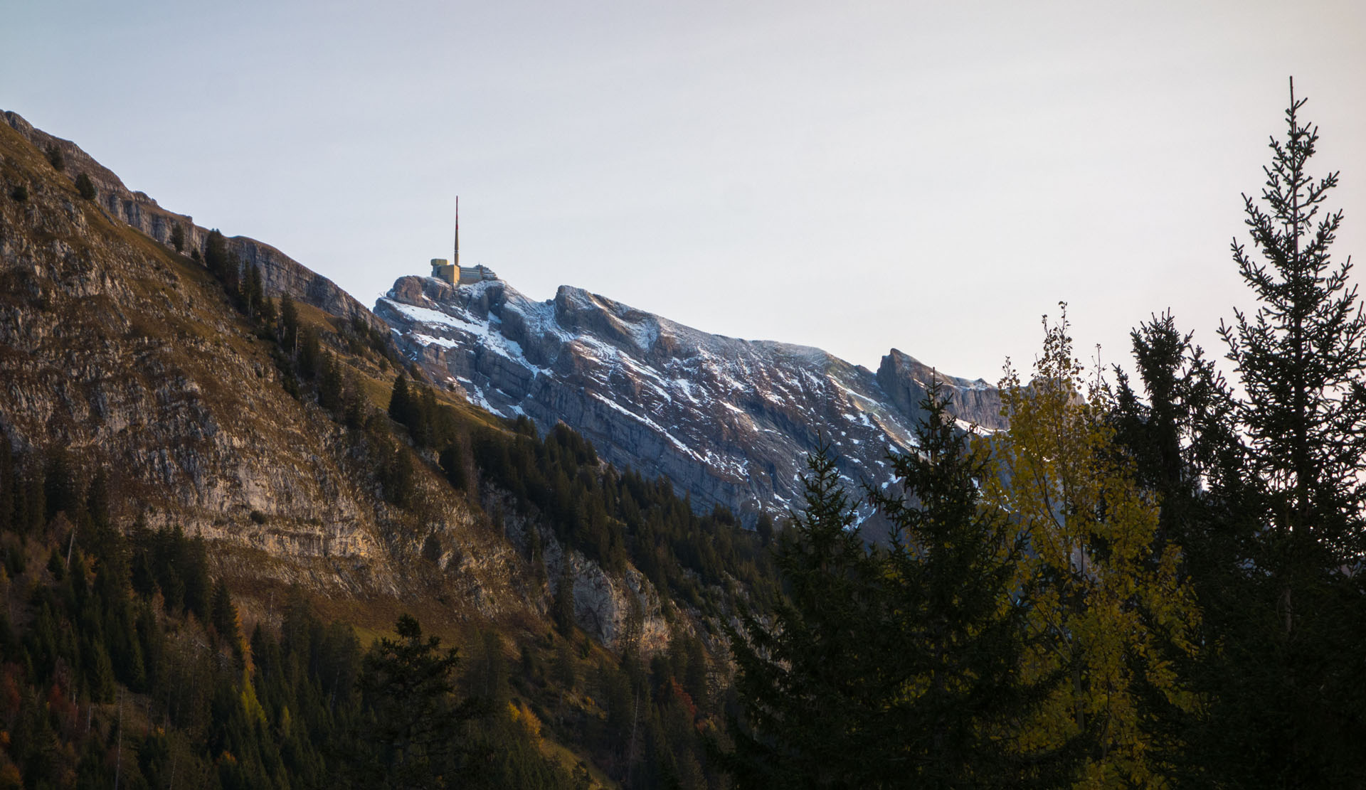
[[[742,613],[727,628],[743,718],[723,755],[736,787],[863,787],[882,776],[880,712],[887,618],[881,569],[865,548],[839,468],[822,445],[807,458],[806,509],[776,564],[790,589],[770,625]]]

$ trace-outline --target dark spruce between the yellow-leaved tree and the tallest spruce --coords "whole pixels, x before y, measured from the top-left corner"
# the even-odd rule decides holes
[[[1224,729],[1217,709],[1231,673],[1221,651],[1227,624],[1240,618],[1239,547],[1246,538],[1239,503],[1253,497],[1232,420],[1229,387],[1171,314],[1153,317],[1131,333],[1141,390],[1116,367],[1119,386],[1109,423],[1134,464],[1135,482],[1160,503],[1150,562],[1168,546],[1180,548],[1177,579],[1190,585],[1201,610],[1182,639],[1154,630],[1153,649],[1135,663],[1161,663],[1201,704],[1173,704],[1152,684],[1138,694],[1149,755],[1177,786],[1205,786],[1227,776],[1224,756],[1212,748]],[[1150,566],[1152,568],[1152,566]],[[1145,618],[1153,622],[1152,617]]]

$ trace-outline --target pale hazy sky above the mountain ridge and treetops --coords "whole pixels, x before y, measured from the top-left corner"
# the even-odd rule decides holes
[[[706,332],[1027,370],[1254,308],[1287,78],[1366,255],[1366,4],[0,0],[0,109],[366,304],[460,259]],[[1354,274],[1354,282],[1362,277]],[[1097,344],[1100,351],[1097,351]]]

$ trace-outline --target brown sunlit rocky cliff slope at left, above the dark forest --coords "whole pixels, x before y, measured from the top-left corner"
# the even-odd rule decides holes
[[[343,431],[284,392],[221,288],[105,203],[81,199],[66,176],[89,157],[68,153],[68,173],[57,173],[4,126],[0,156],[5,439],[20,453],[60,446],[86,473],[109,471],[128,494],[120,502],[153,527],[292,558],[322,584],[365,579],[393,592],[387,516]],[[10,196],[19,184],[22,202]],[[135,203],[143,222],[149,206]]]

